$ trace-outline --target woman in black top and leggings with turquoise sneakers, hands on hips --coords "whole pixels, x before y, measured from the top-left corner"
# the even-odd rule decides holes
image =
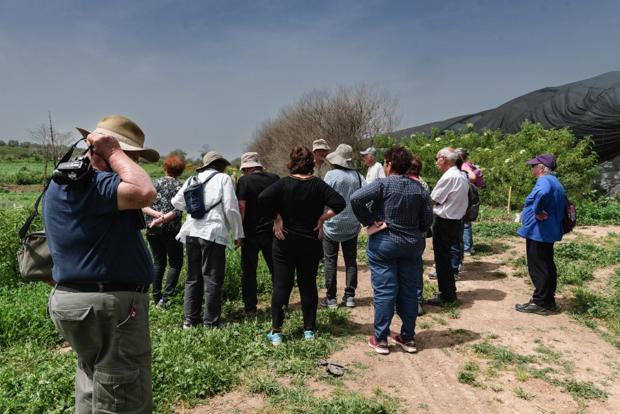
[[[258,196],[266,217],[276,219],[273,238],[271,331],[267,338],[282,343],[282,324],[289,306],[295,273],[302,302],[304,339],[314,339],[318,291],[316,273],[323,256],[323,222],[340,213],[344,198],[312,175],[314,158],[307,147],[294,147],[287,162],[289,176],[280,178]],[[325,209],[327,206],[327,209]]]

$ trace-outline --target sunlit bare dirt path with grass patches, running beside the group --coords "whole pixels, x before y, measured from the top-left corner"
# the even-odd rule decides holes
[[[620,227],[577,229],[566,240],[578,234],[598,238],[611,231],[618,233]],[[462,280],[457,282],[457,294],[463,301],[457,318],[441,309],[425,307],[426,315],[417,320],[415,354],[391,346],[389,355],[378,355],[366,345],[373,334],[372,289],[368,267],[360,266],[358,307],[351,310],[352,322],[360,325],[360,335],[351,338],[344,349],[330,358],[345,366],[355,366],[345,374],[347,388],[368,396],[381,389],[402,399],[406,413],[619,413],[620,352],[565,312],[540,316],[515,311],[515,303],[530,298],[532,287],[526,283],[528,278],[513,276],[513,269],[507,265],[524,256],[525,243],[515,238],[507,244],[510,248],[504,253],[466,258]],[[432,269],[431,247],[424,252],[424,262],[427,269]],[[338,271],[340,279],[344,267]],[[428,270],[425,279],[426,273]],[[606,274],[608,269],[600,269],[595,276]],[[564,309],[569,304],[561,296],[557,302]],[[391,330],[400,330],[397,316]],[[516,364],[493,369],[488,358],[472,349],[472,344],[484,340],[494,346],[508,346],[521,355],[537,355],[544,364],[528,366],[551,366],[556,378],[591,382],[609,395],[604,402],[577,402],[569,393],[562,392],[562,386],[524,374]],[[462,384],[457,379],[467,362],[479,366],[478,386]],[[329,393],[324,382],[309,386],[318,395]],[[208,406],[192,412],[251,413],[262,404],[258,397],[234,392],[216,397]]]

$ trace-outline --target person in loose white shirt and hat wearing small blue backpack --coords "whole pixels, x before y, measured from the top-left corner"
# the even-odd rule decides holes
[[[196,168],[198,179],[203,184],[205,207],[211,210],[203,218],[187,220],[176,239],[185,243],[187,273],[185,276],[185,322],[183,329],[190,329],[203,323],[205,327],[220,326],[222,313],[222,285],[226,265],[226,247],[233,247],[229,231],[235,238],[234,249],[242,245],[243,224],[239,213],[239,202],[235,187],[226,171],[230,163],[219,153],[210,151],[203,157],[203,166]],[[183,190],[187,182],[172,198],[172,205],[185,210]],[[200,317],[203,295],[205,312]]]

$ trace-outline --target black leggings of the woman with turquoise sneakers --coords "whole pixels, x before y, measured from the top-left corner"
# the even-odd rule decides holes
[[[322,245],[320,240],[291,233],[285,233],[285,237],[285,240],[273,238],[271,324],[275,329],[282,328],[297,273],[304,328],[313,330],[316,327],[318,304],[316,273],[320,258],[323,256]]]

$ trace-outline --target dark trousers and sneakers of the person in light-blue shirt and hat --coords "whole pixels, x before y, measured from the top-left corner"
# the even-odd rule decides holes
[[[338,273],[338,249],[340,246],[342,246],[344,272],[346,275],[342,304],[349,308],[355,307],[355,289],[358,288],[358,236],[344,242],[334,242],[327,237],[323,237],[323,254],[325,258],[323,271],[325,273],[325,290],[327,294],[320,304],[330,309],[338,307],[338,302],[336,302],[336,293],[338,291],[336,273]]]

